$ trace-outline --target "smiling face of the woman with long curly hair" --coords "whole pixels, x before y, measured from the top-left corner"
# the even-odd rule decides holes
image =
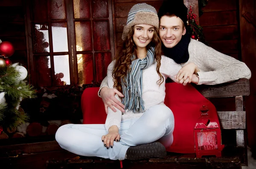
[[[137,48],[146,48],[154,35],[154,26],[152,25],[134,25],[133,41]]]

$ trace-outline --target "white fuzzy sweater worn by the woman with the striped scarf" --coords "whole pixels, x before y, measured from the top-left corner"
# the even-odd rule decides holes
[[[110,88],[113,88],[114,85],[112,77],[114,62],[115,61],[111,62],[111,64],[108,66],[107,80]],[[166,56],[162,56],[160,73],[163,75],[164,82],[160,86],[157,84],[157,81],[160,79],[159,75],[157,74],[157,62],[154,61],[151,66],[143,69],[142,98],[144,101],[145,110],[157,104],[164,104],[166,95],[165,80],[167,77],[175,80],[174,76],[181,68],[181,65],[174,62],[174,60]],[[116,98],[121,101],[117,95]],[[110,108],[108,108],[108,116],[105,122],[105,127],[107,130],[113,125],[120,128],[121,120],[128,118],[140,118],[142,114],[143,113],[133,113],[132,111],[127,110],[125,113],[122,113],[118,109],[116,109],[116,112],[113,112]]]

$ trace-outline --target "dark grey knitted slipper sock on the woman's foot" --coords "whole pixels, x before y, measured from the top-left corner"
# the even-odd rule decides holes
[[[164,158],[166,148],[159,142],[153,142],[140,146],[131,146],[127,149],[125,159],[139,160],[144,158]]]

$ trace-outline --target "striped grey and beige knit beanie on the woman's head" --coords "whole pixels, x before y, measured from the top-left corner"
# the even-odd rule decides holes
[[[138,3],[131,8],[122,34],[122,40],[125,40],[132,26],[139,24],[152,25],[159,29],[157,11],[153,6],[146,3]]]

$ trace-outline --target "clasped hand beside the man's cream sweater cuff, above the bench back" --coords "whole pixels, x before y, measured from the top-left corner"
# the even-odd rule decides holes
[[[181,68],[180,71],[178,72],[177,76],[175,76],[176,82],[180,83],[180,81],[183,79],[182,82],[186,82],[186,84],[191,83],[192,74],[199,71],[200,70],[198,69],[198,66],[195,65],[195,63],[189,63],[183,66],[183,68]],[[186,81],[187,79],[188,81]]]

